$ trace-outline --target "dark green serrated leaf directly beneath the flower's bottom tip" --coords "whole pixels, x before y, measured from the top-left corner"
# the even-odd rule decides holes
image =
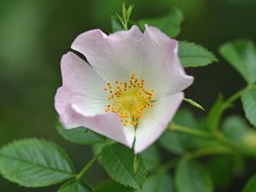
[[[146,178],[146,168],[143,158],[139,154],[137,154],[139,162],[137,172],[133,170],[135,154],[133,154],[130,148],[114,144],[111,147],[103,148],[101,155],[100,161],[102,166],[115,182],[134,189],[142,188]]]

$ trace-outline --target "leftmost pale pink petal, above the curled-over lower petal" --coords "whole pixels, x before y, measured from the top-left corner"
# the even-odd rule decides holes
[[[103,91],[105,81],[78,55],[68,52],[61,58],[62,87],[55,96],[55,108],[61,115],[70,102],[84,110],[86,115],[103,113],[108,95]]]

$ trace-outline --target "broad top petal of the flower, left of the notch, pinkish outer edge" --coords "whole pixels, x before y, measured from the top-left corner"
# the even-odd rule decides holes
[[[86,56],[90,65],[95,68],[107,82],[127,81],[131,73],[139,67],[143,33],[137,26],[129,31],[115,32],[107,36],[101,30],[84,32],[72,44],[75,49]]]

